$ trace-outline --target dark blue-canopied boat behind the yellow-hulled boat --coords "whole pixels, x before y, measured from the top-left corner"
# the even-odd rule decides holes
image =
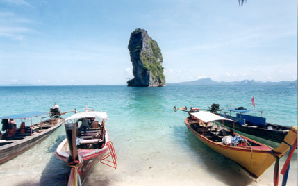
[[[227,121],[226,126],[235,128],[242,133],[255,135],[265,140],[281,143],[290,130],[289,126],[282,126],[278,124],[271,124],[266,122],[266,118],[249,115],[254,110],[247,110],[243,107],[239,108],[224,108],[221,110],[220,116],[233,119],[235,122]],[[231,113],[235,112],[233,116]],[[260,111],[263,113],[263,111]],[[229,113],[229,114],[228,114]]]

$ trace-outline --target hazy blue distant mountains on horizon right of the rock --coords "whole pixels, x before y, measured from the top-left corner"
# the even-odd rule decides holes
[[[279,85],[279,86],[293,86],[297,87],[297,80],[295,81],[254,81],[254,80],[242,80],[242,81],[213,81],[211,78],[202,78],[195,81],[185,81],[179,83],[167,83],[167,85]]]

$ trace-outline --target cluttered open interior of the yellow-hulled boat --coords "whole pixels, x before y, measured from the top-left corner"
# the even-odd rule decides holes
[[[208,140],[211,140],[217,144],[223,144],[222,139],[226,136],[235,137],[235,134],[233,133],[233,129],[229,130],[228,128],[221,126],[219,123],[216,123],[215,121],[211,121],[206,124],[203,121],[200,121],[198,119],[188,119],[188,124],[190,124],[190,127],[194,129],[196,133],[198,133],[199,135],[204,135],[204,137],[208,138]],[[245,148],[250,148],[250,146],[254,146],[254,147],[262,146],[261,144],[257,144],[246,138],[242,138],[242,137],[240,138],[241,139],[238,140],[238,142],[226,144],[226,145],[245,147]],[[242,139],[245,139],[245,140],[242,140]]]

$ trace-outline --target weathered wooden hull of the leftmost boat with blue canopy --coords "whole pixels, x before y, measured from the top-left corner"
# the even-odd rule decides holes
[[[34,135],[26,136],[22,140],[14,140],[11,144],[6,144],[0,146],[0,164],[7,162],[15,158],[17,155],[24,153],[35,144],[40,143],[46,137],[51,135],[53,131],[55,131],[58,127],[61,126],[63,119],[60,119],[55,126],[51,126],[51,128],[44,130],[41,133],[34,133]],[[8,141],[9,142],[9,141]]]

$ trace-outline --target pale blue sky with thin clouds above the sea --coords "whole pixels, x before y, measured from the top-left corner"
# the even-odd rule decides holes
[[[297,1],[0,0],[0,85],[124,85],[135,28],[168,83],[297,79]]]

